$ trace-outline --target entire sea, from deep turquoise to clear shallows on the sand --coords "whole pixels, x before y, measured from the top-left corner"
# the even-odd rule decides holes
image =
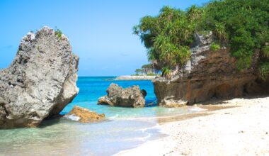
[[[39,128],[0,130],[0,155],[113,155],[147,140],[164,137],[156,116],[192,112],[189,108],[118,108],[97,105],[110,83],[122,87],[139,85],[147,90],[146,103],[156,101],[151,81],[114,81],[115,77],[79,77],[78,96],[62,114],[75,105],[105,113],[100,123],[78,123],[65,118],[44,121]]]

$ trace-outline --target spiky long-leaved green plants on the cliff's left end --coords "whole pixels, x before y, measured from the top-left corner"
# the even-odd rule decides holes
[[[145,16],[133,28],[148,49],[148,59],[155,69],[171,69],[178,64],[185,65],[190,59],[188,45],[193,42],[196,21],[202,12],[197,6],[188,12],[164,6],[158,16]]]

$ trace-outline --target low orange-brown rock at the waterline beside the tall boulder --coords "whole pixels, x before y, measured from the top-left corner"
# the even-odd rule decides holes
[[[86,108],[74,106],[74,108],[69,113],[67,113],[64,118],[69,118],[73,121],[79,121],[81,123],[90,123],[102,120],[105,118],[105,114],[98,114]]]

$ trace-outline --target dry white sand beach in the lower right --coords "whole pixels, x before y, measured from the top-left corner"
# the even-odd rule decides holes
[[[269,97],[224,102],[240,107],[161,124],[168,137],[118,155],[269,155]]]

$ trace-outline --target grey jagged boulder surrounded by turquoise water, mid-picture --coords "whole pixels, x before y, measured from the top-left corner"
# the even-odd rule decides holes
[[[123,89],[118,84],[110,84],[106,90],[108,95],[98,99],[98,104],[109,104],[110,106],[122,107],[144,107],[147,91],[140,90],[138,86]]]

